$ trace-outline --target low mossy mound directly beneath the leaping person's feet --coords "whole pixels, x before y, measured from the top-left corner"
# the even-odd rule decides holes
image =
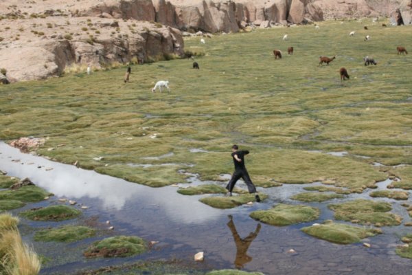
[[[267,199],[266,194],[259,193],[260,199],[263,201]],[[199,199],[199,201],[207,204],[208,206],[220,209],[228,209],[228,208],[235,208],[237,206],[241,206],[242,204],[246,204],[249,201],[255,201],[255,195],[253,194],[242,194],[233,197],[204,197]]]

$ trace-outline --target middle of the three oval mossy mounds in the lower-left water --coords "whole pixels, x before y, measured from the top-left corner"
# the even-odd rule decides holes
[[[61,228],[41,230],[34,234],[35,241],[58,241],[71,243],[95,235],[95,230],[87,226],[66,225]]]

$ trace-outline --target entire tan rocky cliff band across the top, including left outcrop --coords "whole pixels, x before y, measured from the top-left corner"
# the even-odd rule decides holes
[[[411,10],[412,0],[2,0],[0,69],[11,80],[45,78],[73,64],[182,55],[181,30],[380,15],[410,24]]]

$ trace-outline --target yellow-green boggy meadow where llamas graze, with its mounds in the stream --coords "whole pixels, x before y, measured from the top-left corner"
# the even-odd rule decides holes
[[[369,30],[363,30],[365,24]],[[382,28],[369,19],[319,25],[319,30],[308,25],[214,36],[205,45],[199,38],[186,39],[186,50],[204,54],[195,58],[199,70],[192,69],[190,59],[133,65],[127,84],[123,67],[0,85],[0,140],[43,137],[45,144],[33,149],[38,155],[155,188],[183,184],[196,174],[208,184],[181,186],[176,195],[201,195],[206,207],[244,210],[249,201],[250,207],[260,207],[240,190],[234,197],[222,195],[226,174],[233,170],[230,148],[239,144],[251,151],[247,168],[264,200],[251,218],[267,226],[306,226],[308,235],[332,243],[380,234],[373,226],[384,227],[385,234],[386,226],[396,230],[407,222],[392,212],[392,204],[410,202],[412,188],[412,57],[396,54],[398,45],[412,44],[411,28]],[[288,40],[282,41],[285,33]],[[367,34],[371,41],[364,41]],[[291,56],[289,46],[295,48]],[[282,59],[273,58],[275,49],[282,50]],[[319,56],[336,59],[319,66]],[[378,65],[365,66],[364,56],[373,56]],[[341,67],[350,80],[341,82]],[[169,80],[171,92],[152,93],[157,80]],[[365,194],[388,178],[396,180]],[[15,181],[0,176],[2,188]],[[309,192],[271,197],[272,187],[290,184],[306,184],[302,189]],[[17,191],[0,191],[1,211],[49,195],[36,186]],[[336,222],[300,224],[323,219],[328,203],[333,203],[328,218],[334,214]],[[21,217],[61,221],[79,215],[69,206],[48,206]],[[35,238],[78,240],[79,228],[70,226],[43,228]],[[119,238],[106,239],[106,246],[94,243],[87,256],[104,257],[100,250],[117,245],[113,240],[130,244],[130,255],[146,255],[144,241]],[[410,251],[397,250],[406,257]],[[231,272],[222,274],[243,274]]]

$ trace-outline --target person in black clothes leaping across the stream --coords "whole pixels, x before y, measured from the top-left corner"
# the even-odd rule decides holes
[[[239,150],[238,145],[235,144],[232,146],[231,156],[233,157],[233,164],[235,164],[235,172],[233,172],[233,175],[229,183],[227,184],[226,189],[229,191],[229,196],[231,196],[233,187],[235,187],[236,181],[242,178],[244,180],[244,183],[247,184],[249,193],[255,194],[256,201],[260,202],[260,197],[258,194],[256,194],[256,188],[253,185],[251,178],[249,177],[249,173],[247,173],[246,166],[244,166],[244,155],[247,155],[247,154],[249,154],[249,151]]]

